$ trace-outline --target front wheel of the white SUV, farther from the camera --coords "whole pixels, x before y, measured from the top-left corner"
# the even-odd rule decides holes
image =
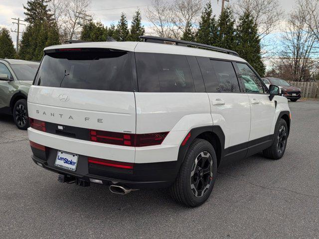
[[[284,156],[288,139],[288,127],[284,119],[279,119],[274,133],[273,144],[263,150],[264,156],[270,159],[280,159]]]

